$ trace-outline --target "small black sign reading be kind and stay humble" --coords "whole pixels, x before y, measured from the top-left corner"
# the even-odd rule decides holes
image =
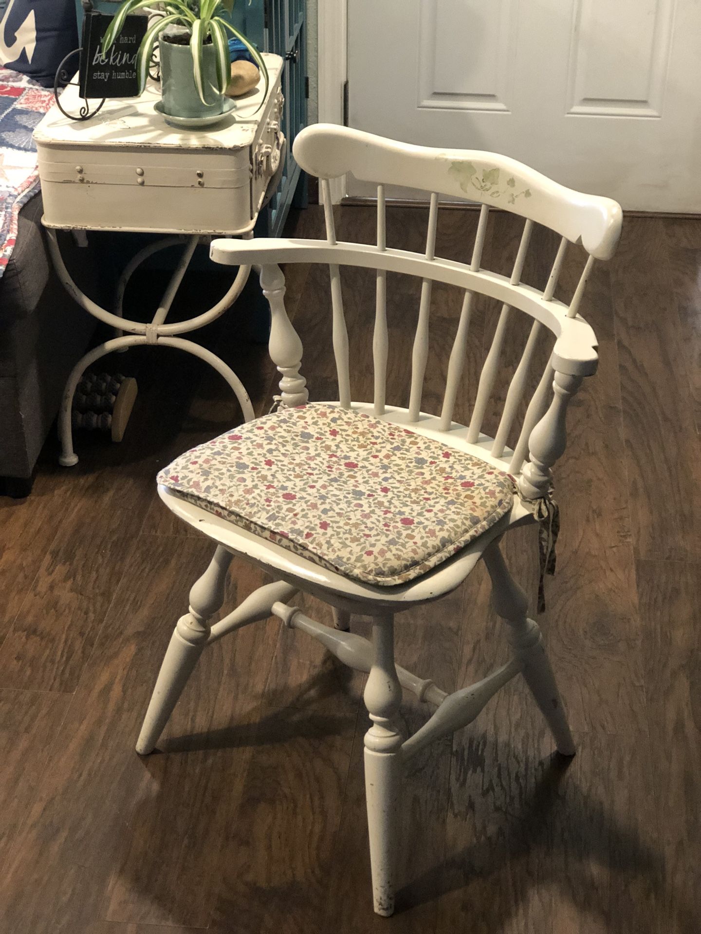
[[[103,54],[102,37],[113,17],[86,13],[80,50],[81,97],[137,97],[136,52],[146,35],[147,16],[128,16],[114,45]]]

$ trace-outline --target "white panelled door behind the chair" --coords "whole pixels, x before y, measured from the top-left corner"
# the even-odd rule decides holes
[[[348,0],[348,78],[350,126],[701,212],[698,0]]]

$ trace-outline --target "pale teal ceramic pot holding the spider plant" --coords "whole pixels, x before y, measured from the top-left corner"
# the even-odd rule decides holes
[[[161,37],[161,93],[163,107],[171,117],[209,117],[221,114],[223,97],[217,86],[217,53],[209,44],[202,49],[202,75],[207,105],[200,100],[194,84],[193,53],[190,46],[166,42]]]

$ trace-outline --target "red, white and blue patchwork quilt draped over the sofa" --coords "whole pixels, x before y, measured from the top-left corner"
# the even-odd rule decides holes
[[[39,190],[32,133],[52,104],[52,91],[0,67],[0,277],[15,246],[21,206]]]

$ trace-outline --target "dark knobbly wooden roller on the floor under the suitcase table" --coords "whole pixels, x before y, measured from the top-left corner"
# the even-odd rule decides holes
[[[73,428],[111,432],[112,441],[122,441],[137,391],[133,376],[84,374],[73,400]]]

